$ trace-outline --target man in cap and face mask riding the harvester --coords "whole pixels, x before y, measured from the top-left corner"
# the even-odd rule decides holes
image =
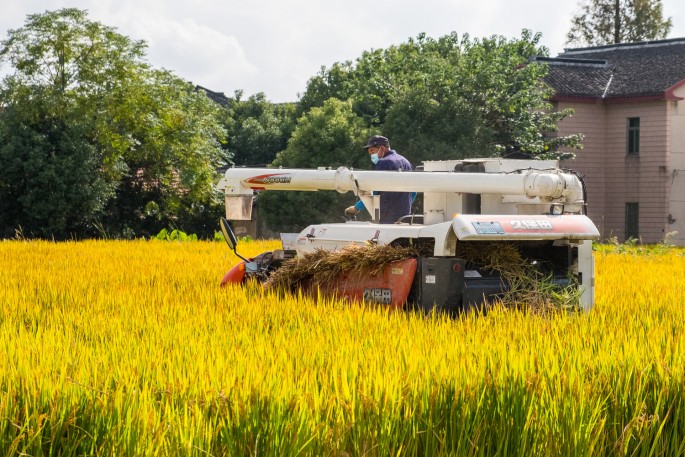
[[[369,152],[374,170],[407,170],[413,169],[411,163],[390,149],[390,142],[384,136],[374,135],[364,146]],[[374,192],[376,194],[376,192]],[[381,224],[394,224],[402,216],[411,214],[411,204],[416,196],[414,192],[378,192],[381,200]],[[357,214],[364,210],[364,203],[359,200],[354,206],[345,210],[346,214]]]

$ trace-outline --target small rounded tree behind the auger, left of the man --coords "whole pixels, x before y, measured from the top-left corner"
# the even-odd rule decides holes
[[[351,103],[331,98],[299,120],[288,147],[278,154],[273,165],[370,168],[368,154],[362,149],[369,136],[370,131],[354,114]],[[354,199],[351,193],[334,191],[266,191],[257,197],[257,208],[272,230],[294,232],[309,224],[338,220]]]

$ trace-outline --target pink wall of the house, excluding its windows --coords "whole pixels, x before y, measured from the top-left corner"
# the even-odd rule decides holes
[[[671,102],[557,103],[575,115],[559,123],[559,134],[583,133],[584,149],[563,166],[585,175],[588,216],[603,239],[625,240],[625,204],[640,205],[639,234],[656,243],[671,230],[668,224],[670,188]],[[629,117],[640,118],[640,153],[628,155]]]

